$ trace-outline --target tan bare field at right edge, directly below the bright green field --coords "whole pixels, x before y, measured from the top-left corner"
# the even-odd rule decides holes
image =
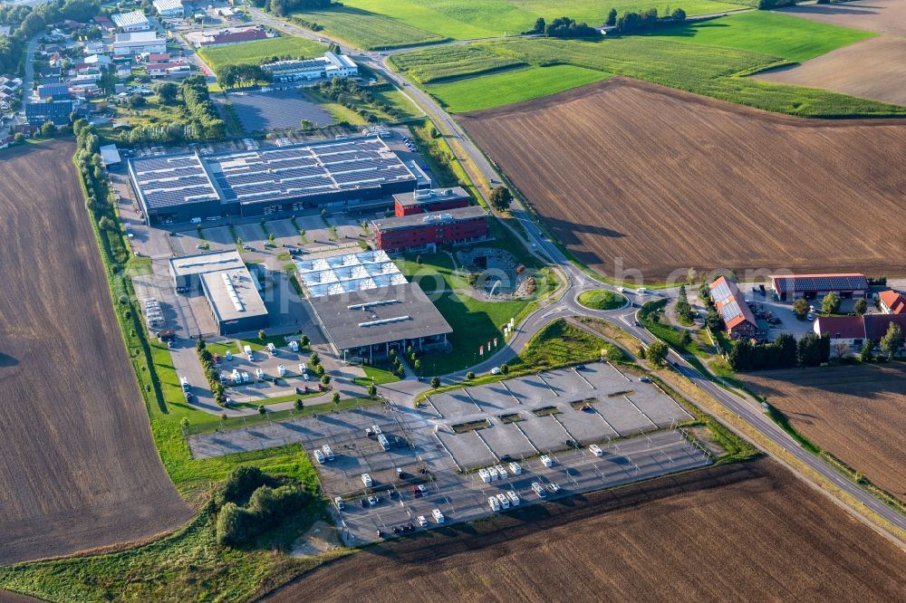
[[[904,64],[906,37],[882,35],[843,46],[801,64],[758,73],[753,77],[906,105]]]

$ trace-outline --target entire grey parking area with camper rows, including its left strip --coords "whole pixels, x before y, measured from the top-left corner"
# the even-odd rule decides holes
[[[557,483],[562,492],[548,493],[555,499],[710,463],[675,427],[689,418],[683,409],[652,384],[630,380],[606,364],[454,390],[432,400],[434,407],[369,406],[192,436],[189,446],[199,457],[294,442],[313,455],[330,445],[333,461],[316,466],[324,493],[344,499],[342,512],[335,514],[349,544],[377,540],[378,530],[387,536],[395,526],[417,524],[419,515],[435,525],[433,509],[447,522],[480,518],[491,512],[492,493],[512,489],[524,504],[538,502],[534,482]],[[592,401],[575,408],[576,400]],[[535,414],[546,407],[557,412]],[[520,420],[505,422],[501,416]],[[491,426],[453,433],[453,425],[482,420]],[[371,426],[387,436],[388,450],[366,434]],[[568,445],[570,439],[575,443]],[[601,443],[602,456],[589,451],[590,442]],[[542,464],[541,454],[551,456],[551,467]],[[523,474],[508,471],[502,480],[483,483],[473,471],[510,461],[518,462]],[[370,488],[361,474],[371,476]],[[424,497],[413,490],[419,484],[427,488]],[[372,506],[369,496],[379,502]]]

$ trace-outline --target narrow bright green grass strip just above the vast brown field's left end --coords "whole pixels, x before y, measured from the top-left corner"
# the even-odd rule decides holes
[[[430,85],[427,90],[448,110],[463,113],[528,101],[609,77],[608,73],[583,67],[552,65],[449,81]]]

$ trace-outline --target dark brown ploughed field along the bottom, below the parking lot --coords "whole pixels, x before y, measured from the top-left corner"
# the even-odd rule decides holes
[[[906,553],[767,459],[372,547],[289,601],[888,601]]]

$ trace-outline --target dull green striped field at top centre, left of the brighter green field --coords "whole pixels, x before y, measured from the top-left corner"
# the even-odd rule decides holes
[[[448,38],[403,24],[383,14],[353,6],[336,5],[329,9],[301,11],[293,20],[309,29],[322,29],[333,37],[367,50],[400,48],[444,42]]]

